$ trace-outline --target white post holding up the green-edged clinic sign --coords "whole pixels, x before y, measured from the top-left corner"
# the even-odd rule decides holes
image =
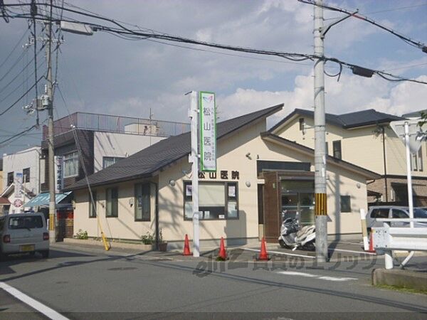
[[[191,91],[191,199],[193,202],[193,256],[200,256],[199,249],[199,108],[197,91]]]

